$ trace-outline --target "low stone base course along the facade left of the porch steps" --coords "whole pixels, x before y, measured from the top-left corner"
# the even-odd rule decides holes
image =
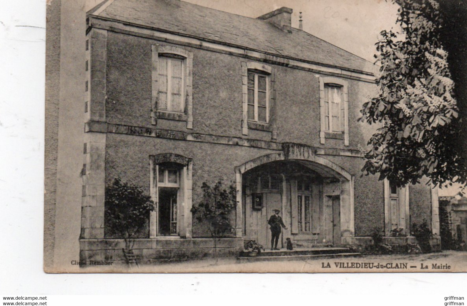
[[[122,249],[123,239],[81,239],[79,260],[125,262]],[[217,249],[217,250],[216,250]],[[211,238],[191,239],[135,239],[133,252],[138,263],[150,263],[161,259],[198,259],[214,257],[234,257],[243,249],[241,238],[220,238],[216,242]]]

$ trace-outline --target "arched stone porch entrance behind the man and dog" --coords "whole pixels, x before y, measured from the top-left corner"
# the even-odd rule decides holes
[[[295,247],[343,245],[354,236],[354,178],[311,147],[284,144],[283,152],[255,158],[235,168],[237,237],[270,244],[273,209]],[[280,242],[279,242],[280,244]],[[285,244],[283,244],[285,246]]]

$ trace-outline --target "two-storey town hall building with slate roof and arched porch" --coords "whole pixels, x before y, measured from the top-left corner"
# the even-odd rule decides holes
[[[134,245],[142,260],[212,255],[191,207],[219,178],[238,201],[222,256],[245,240],[268,246],[273,209],[297,248],[371,243],[375,228],[406,243],[423,220],[439,243],[436,188],[361,176],[374,127],[357,119],[375,67],[292,28],[291,13],[255,19],[180,0],[107,0],[88,12],[81,260],[122,259],[123,240],[105,235],[114,178],[157,203]]]

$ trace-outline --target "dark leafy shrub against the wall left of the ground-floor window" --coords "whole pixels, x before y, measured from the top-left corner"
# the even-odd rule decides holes
[[[149,214],[155,210],[151,197],[138,186],[122,183],[120,178],[106,187],[106,231],[116,238],[124,238],[126,248],[147,227]]]

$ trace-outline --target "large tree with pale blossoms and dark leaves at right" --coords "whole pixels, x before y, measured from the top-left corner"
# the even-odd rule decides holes
[[[447,52],[440,40],[443,14],[434,0],[393,0],[401,33],[383,30],[376,43],[377,96],[361,120],[381,126],[368,141],[365,174],[397,185],[466,182],[460,117]]]

